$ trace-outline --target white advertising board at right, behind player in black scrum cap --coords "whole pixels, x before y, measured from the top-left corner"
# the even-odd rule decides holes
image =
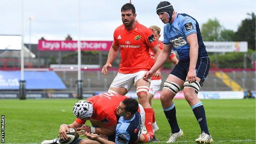
[[[247,41],[204,41],[207,52],[247,52]]]

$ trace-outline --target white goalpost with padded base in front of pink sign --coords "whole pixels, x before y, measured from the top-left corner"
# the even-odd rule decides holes
[[[77,98],[82,98],[83,92],[83,81],[81,80],[81,10],[80,10],[80,0],[78,0],[78,80],[76,81],[76,91],[77,91]]]

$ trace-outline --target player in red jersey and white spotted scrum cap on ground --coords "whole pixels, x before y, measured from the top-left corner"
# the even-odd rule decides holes
[[[73,112],[75,114],[75,121],[69,125],[62,124],[59,128],[59,138],[67,140],[67,132],[69,128],[74,128],[78,131],[78,134],[96,133],[107,137],[108,140],[115,140],[115,131],[117,126],[117,107],[119,107],[120,102],[122,102],[126,96],[122,96],[116,93],[102,93],[96,96],[92,96],[87,99],[87,101],[78,101],[73,107]],[[137,109],[138,110],[138,109]],[[144,110],[140,105],[142,122],[144,123]],[[84,125],[87,120],[91,121],[91,124],[96,127],[90,127]],[[150,141],[151,139],[146,140]],[[81,140],[81,139],[80,139]],[[77,142],[79,142],[78,140]],[[90,143],[90,139],[83,139],[82,142]],[[58,139],[45,140],[41,144],[58,144]],[[93,142],[92,142],[93,143]]]

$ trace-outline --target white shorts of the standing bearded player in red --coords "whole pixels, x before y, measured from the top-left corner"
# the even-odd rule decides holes
[[[145,73],[146,71],[138,71],[137,73],[128,73],[128,74],[117,73],[117,76],[114,78],[110,87],[124,87],[127,89],[127,91],[129,91],[130,88],[133,86],[133,84],[136,84],[136,82],[139,79],[143,78],[143,75]]]

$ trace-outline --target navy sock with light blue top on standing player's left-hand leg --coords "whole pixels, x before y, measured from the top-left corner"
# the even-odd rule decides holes
[[[171,126],[171,133],[178,133],[180,128],[176,119],[176,108],[174,103],[171,107],[164,108],[165,117],[167,118],[169,125]]]

